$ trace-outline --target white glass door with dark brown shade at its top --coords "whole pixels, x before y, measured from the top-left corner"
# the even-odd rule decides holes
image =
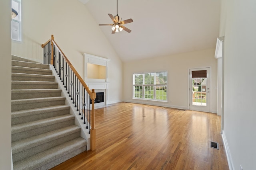
[[[189,109],[210,112],[210,68],[189,70]]]

